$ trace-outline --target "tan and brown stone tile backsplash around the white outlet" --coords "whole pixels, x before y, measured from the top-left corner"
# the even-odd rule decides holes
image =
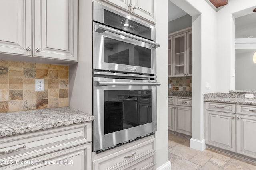
[[[35,79],[44,91],[35,91]],[[0,60],[0,113],[66,107],[68,66]]]

